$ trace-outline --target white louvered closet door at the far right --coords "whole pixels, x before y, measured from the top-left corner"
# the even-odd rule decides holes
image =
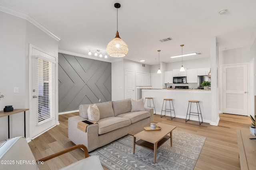
[[[223,113],[248,115],[247,64],[223,66]]]

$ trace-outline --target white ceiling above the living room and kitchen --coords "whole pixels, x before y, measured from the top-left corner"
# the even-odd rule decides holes
[[[118,32],[128,45],[128,60],[158,64],[160,49],[160,62],[181,61],[170,59],[181,54],[181,44],[183,54],[210,57],[212,37],[220,51],[250,47],[256,37],[256,0],[0,0],[60,37],[59,50],[81,55],[88,49],[106,52],[117,29],[116,2],[121,4]],[[228,9],[226,14],[218,14],[222,9]],[[159,41],[168,37],[172,40]]]

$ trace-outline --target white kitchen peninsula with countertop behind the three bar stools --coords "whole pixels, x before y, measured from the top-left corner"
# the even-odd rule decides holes
[[[203,89],[142,89],[142,98],[152,97],[157,114],[161,114],[164,98],[172,98],[176,117],[186,119],[188,100],[199,100],[203,122],[211,122],[211,91]],[[165,102],[164,102],[165,103]],[[147,102],[145,103],[147,106]],[[151,105],[152,106],[152,105]],[[165,106],[165,105],[164,105]],[[169,103],[166,103],[169,109]],[[197,112],[196,104],[192,104],[191,111]],[[164,111],[163,111],[164,113]],[[170,112],[166,112],[170,116]],[[172,116],[174,113],[172,111]],[[190,116],[190,120],[198,121],[198,116]]]

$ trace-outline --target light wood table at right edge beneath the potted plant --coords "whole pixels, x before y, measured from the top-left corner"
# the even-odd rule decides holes
[[[254,170],[256,168],[256,139],[247,131],[236,130],[241,170]]]

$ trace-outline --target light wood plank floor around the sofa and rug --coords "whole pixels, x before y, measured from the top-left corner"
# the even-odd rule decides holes
[[[75,115],[79,115],[79,113],[59,115],[60,125],[29,143],[36,160],[74,146],[68,139],[68,117]],[[161,118],[160,115],[154,115],[154,121],[174,125],[177,127],[176,131],[206,137],[194,170],[240,170],[236,129],[249,131],[250,117],[220,114],[218,126],[212,126],[209,123],[199,125],[198,121],[186,123],[184,119],[174,118],[171,120],[170,117]],[[39,165],[39,168],[40,170],[60,169],[82,158],[83,151],[78,149],[53,160],[48,160],[43,165]],[[104,169],[107,170],[105,167]]]

